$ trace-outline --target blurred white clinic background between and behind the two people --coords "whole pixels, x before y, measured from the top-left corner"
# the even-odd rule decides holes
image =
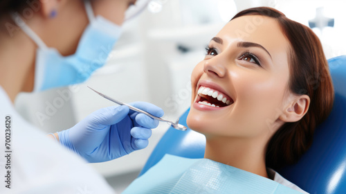
[[[346,1],[290,0],[154,0],[160,12],[145,9],[123,25],[123,33],[107,64],[85,83],[40,94],[21,94],[16,108],[44,132],[66,130],[91,112],[113,105],[86,86],[125,103],[147,101],[162,107],[165,118],[175,121],[190,106],[190,74],[206,53],[210,39],[236,12],[271,6],[295,21],[308,25],[316,8],[335,19],[334,28],[314,28],[327,58],[346,55]],[[101,164],[90,164],[122,191],[138,175],[156,143],[168,129],[153,130],[145,150]],[[44,145],[42,145],[44,146]]]

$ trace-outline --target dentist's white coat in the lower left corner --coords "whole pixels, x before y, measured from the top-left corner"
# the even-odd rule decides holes
[[[6,96],[7,97],[7,96]],[[0,193],[114,193],[86,161],[24,121],[0,87]],[[5,102],[5,104],[4,104]],[[10,169],[6,169],[5,116],[10,115]],[[3,180],[10,170],[10,188]]]

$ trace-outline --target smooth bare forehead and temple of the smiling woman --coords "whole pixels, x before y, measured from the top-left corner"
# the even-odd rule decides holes
[[[233,19],[216,35],[217,44],[222,42],[223,49],[237,48],[241,42],[257,45],[267,51],[272,71],[286,72],[289,69],[290,43],[286,39],[276,19],[261,15],[246,15]],[[213,38],[212,42],[216,40]],[[250,48],[251,46],[240,46]],[[231,51],[231,50],[230,50]],[[268,55],[268,56],[269,56]]]

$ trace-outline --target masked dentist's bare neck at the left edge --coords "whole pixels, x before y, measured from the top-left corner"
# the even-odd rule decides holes
[[[12,24],[9,19],[1,21],[1,26]],[[7,28],[0,30],[0,85],[6,91],[12,103],[21,91],[33,90],[35,75],[36,44],[18,27],[12,35]]]

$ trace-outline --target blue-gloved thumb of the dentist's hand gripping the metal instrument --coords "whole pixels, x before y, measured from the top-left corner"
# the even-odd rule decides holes
[[[114,125],[119,123],[127,114],[129,114],[129,107],[122,105],[105,107],[93,112],[89,116],[91,116],[90,121],[97,128],[97,125]]]

